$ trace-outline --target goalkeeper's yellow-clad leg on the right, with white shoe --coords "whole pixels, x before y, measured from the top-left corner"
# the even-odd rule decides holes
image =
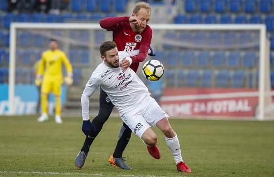
[[[52,93],[54,94],[55,98],[55,122],[57,124],[63,123],[61,118],[61,110],[62,110],[62,104],[61,104],[61,87],[62,82],[61,80],[55,80],[53,82],[52,86]]]

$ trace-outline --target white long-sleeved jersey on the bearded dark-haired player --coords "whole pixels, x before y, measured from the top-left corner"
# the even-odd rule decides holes
[[[125,57],[137,55],[136,52],[138,50],[119,51],[119,63]],[[89,98],[99,87],[108,94],[119,112],[134,109],[145,96],[150,95],[148,88],[130,67],[123,71],[120,66],[112,68],[102,62],[92,72],[81,98],[83,120],[89,119]]]

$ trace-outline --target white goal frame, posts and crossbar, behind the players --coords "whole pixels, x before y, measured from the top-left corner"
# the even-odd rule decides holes
[[[265,24],[149,24],[153,30],[169,29],[169,30],[258,30],[260,33],[259,42],[259,120],[266,119],[264,115],[265,110],[265,96],[273,95],[270,85],[266,86],[265,80],[270,80],[270,61],[269,58],[269,40],[267,39]],[[17,29],[102,29],[98,23],[20,23],[12,22],[10,25],[10,47],[9,47],[9,115],[14,115],[14,101],[15,101],[15,55],[16,55],[16,30]],[[267,92],[267,93],[266,93]]]

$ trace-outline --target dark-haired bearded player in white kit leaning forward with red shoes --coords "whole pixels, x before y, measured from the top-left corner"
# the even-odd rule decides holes
[[[131,69],[122,69],[119,66],[126,57],[138,52],[118,52],[115,42],[107,41],[101,44],[100,54],[103,62],[93,71],[81,97],[83,122],[89,121],[89,101],[92,93],[101,87],[119,111],[121,119],[130,127],[133,133],[141,138],[146,146],[157,143],[157,135],[151,129],[157,126],[165,135],[167,146],[174,156],[177,170],[190,173],[191,170],[183,162],[181,148],[177,134],[168,121],[168,115],[150,96],[148,88]],[[83,123],[84,125],[84,123]],[[91,128],[83,132],[92,136]],[[160,154],[159,154],[160,155]]]

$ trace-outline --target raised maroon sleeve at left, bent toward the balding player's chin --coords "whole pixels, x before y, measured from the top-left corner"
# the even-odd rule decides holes
[[[129,17],[106,17],[100,20],[99,24],[108,31],[116,31],[120,22],[129,22]]]

